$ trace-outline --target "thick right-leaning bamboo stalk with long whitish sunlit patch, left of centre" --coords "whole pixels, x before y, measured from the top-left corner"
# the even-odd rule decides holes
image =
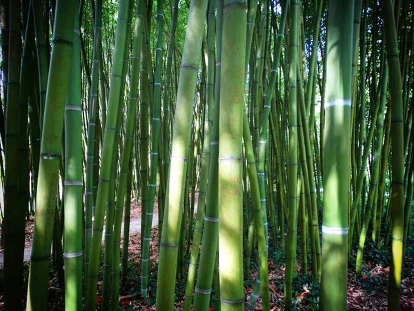
[[[204,32],[204,22],[201,21],[204,21],[206,16],[207,4],[208,1],[201,0],[193,0],[190,3],[175,107],[175,115],[179,116],[179,119],[176,119],[173,125],[171,165],[159,250],[157,310],[172,310],[174,308],[175,274],[177,272],[179,230],[182,216],[181,206],[186,181],[190,122],[193,119],[193,99]]]

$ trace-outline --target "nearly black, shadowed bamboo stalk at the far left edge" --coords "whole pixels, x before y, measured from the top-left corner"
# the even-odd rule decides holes
[[[20,15],[21,5],[19,1],[10,2],[10,28],[8,44],[8,77],[6,93],[6,146],[4,178],[4,303],[6,310],[20,310],[21,285],[23,283],[23,249],[24,249],[24,224],[26,206],[19,200],[19,105],[21,91],[20,86],[20,62],[21,62],[21,30]],[[25,40],[27,44],[27,39]],[[25,44],[25,47],[27,48]],[[23,59],[24,62],[25,59]],[[23,64],[24,66],[25,64]],[[26,67],[26,66],[25,66]],[[24,70],[24,68],[22,68]],[[22,94],[23,95],[23,94]],[[27,104],[27,98],[26,98]],[[27,116],[26,116],[27,120]],[[20,204],[19,204],[20,203]],[[17,280],[15,280],[17,278]]]

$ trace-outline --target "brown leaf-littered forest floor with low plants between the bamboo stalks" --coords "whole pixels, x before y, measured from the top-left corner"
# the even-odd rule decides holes
[[[135,201],[134,201],[135,202]],[[197,200],[196,200],[197,202]],[[140,202],[135,202],[135,206],[131,206],[131,223],[132,219],[139,218]],[[132,211],[134,210],[134,211]],[[135,216],[132,216],[134,214]],[[156,213],[154,214],[154,218]],[[150,241],[150,275],[148,288],[148,301],[144,301],[140,293],[140,248],[141,234],[138,232],[130,232],[130,243],[128,247],[128,274],[121,281],[119,310],[155,310],[155,294],[157,284],[157,263],[158,263],[158,229],[157,222],[152,224],[151,241]],[[140,226],[139,226],[140,228]],[[355,274],[356,249],[351,252],[351,258],[348,261],[348,310],[386,310],[388,298],[388,275],[389,275],[389,258],[391,249],[378,251],[375,249],[375,243],[371,240],[371,233],[368,232],[366,246],[364,249],[363,270],[360,276]],[[270,287],[270,304],[271,310],[283,310],[284,306],[284,271],[285,256],[279,249],[280,236],[277,237],[277,245],[273,245],[273,241],[269,233],[269,287]],[[298,235],[299,238],[299,235]],[[401,305],[400,310],[414,310],[414,240],[407,241],[406,256],[404,258],[404,267],[401,282]],[[354,243],[356,245],[356,243]],[[355,248],[355,247],[354,247]],[[301,274],[301,249],[298,245],[298,262],[297,276],[293,279],[293,307],[291,310],[319,310],[319,284],[311,279],[311,271],[308,275]],[[103,265],[103,252],[101,256],[101,267]],[[175,310],[183,310],[184,292],[186,287],[186,273],[188,270],[188,258],[185,261],[184,276],[177,277],[176,282],[176,299]],[[24,290],[27,290],[29,263],[24,263]],[[257,275],[257,253],[253,254],[250,266],[250,277],[244,282],[246,292],[246,302],[250,298],[253,290],[254,278]],[[102,272],[102,271],[101,271]],[[2,270],[0,270],[0,310],[3,308],[3,282]],[[98,282],[97,303],[101,301],[101,274]],[[50,310],[64,310],[64,290],[59,284],[56,270],[50,270],[49,281],[49,300]],[[214,304],[215,293],[212,291],[211,305]],[[23,305],[26,305],[26,297],[23,299]],[[209,310],[213,310],[210,307]],[[257,301],[256,309],[262,310],[261,299]]]

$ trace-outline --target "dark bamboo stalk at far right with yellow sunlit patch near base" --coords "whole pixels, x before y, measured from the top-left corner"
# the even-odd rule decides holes
[[[392,184],[391,218],[393,223],[390,279],[388,281],[388,310],[399,310],[402,269],[402,246],[404,238],[404,124],[402,112],[402,82],[397,44],[397,30],[393,16],[393,3],[381,1],[384,15],[384,32],[388,69],[390,72],[391,93],[391,140],[392,150]],[[398,23],[398,22],[397,22]]]

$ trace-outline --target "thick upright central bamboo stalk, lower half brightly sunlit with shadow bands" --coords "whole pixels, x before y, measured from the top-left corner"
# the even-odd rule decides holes
[[[221,310],[243,310],[242,123],[246,3],[225,0],[219,114],[219,267]]]

